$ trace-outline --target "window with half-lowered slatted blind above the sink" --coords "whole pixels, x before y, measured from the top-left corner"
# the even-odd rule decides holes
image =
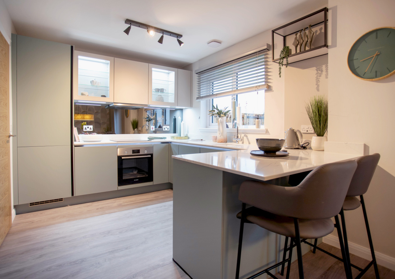
[[[257,115],[264,122],[265,115],[265,50],[232,60],[222,65],[198,72],[198,98],[208,99],[209,109],[232,109],[232,101],[241,107],[240,125],[255,126]],[[226,122],[236,118],[229,112]],[[216,125],[215,117],[209,118],[209,125]],[[230,126],[230,125],[228,125]]]

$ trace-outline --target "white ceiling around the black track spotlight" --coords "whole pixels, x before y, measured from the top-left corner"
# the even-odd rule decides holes
[[[183,67],[327,4],[327,0],[4,0],[17,34]],[[125,19],[182,34],[184,46]],[[211,39],[222,41],[208,47]],[[262,42],[266,43],[266,42]]]

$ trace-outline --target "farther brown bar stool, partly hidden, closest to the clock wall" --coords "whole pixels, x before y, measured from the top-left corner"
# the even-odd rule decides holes
[[[342,230],[343,230],[344,246],[345,246],[345,250],[346,250],[346,257],[347,257],[348,263],[350,264],[349,265],[350,273],[351,273],[351,266],[356,268],[357,270],[359,270],[359,274],[357,275],[357,278],[362,277],[362,275],[365,274],[367,272],[367,270],[369,270],[369,268],[373,265],[376,279],[380,279],[380,275],[378,273],[376,257],[374,255],[372,236],[371,236],[371,232],[370,232],[370,228],[369,228],[369,222],[368,222],[368,217],[367,217],[367,213],[366,213],[365,202],[363,200],[363,194],[365,194],[368,190],[369,184],[372,181],[372,177],[373,177],[374,171],[376,170],[379,160],[380,160],[380,154],[378,154],[378,153],[362,156],[362,157],[359,157],[358,159],[355,160],[357,162],[357,169],[355,170],[354,176],[353,176],[351,183],[350,183],[350,187],[348,188],[347,196],[344,199],[342,210],[340,210],[340,213],[339,213],[341,221],[342,221]],[[360,200],[358,200],[357,196],[359,196]],[[368,235],[369,246],[370,246],[371,254],[372,254],[372,260],[371,260],[371,262],[369,262],[369,264],[365,268],[360,268],[358,266],[355,266],[354,264],[351,264],[351,262],[350,262],[350,253],[348,251],[348,241],[347,241],[347,231],[346,231],[346,221],[344,218],[344,210],[354,210],[354,209],[359,208],[359,206],[362,206],[363,217],[365,219],[366,232]],[[312,245],[311,243],[308,243],[308,242],[305,242],[305,243]],[[321,249],[320,247],[317,247],[317,239],[314,240],[314,245],[312,245],[312,246],[314,247],[313,253],[315,253],[316,249],[318,249],[318,250],[342,261],[341,258],[325,251],[324,249]],[[284,266],[282,267],[282,272],[284,274]]]

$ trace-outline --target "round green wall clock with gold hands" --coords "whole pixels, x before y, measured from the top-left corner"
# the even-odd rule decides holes
[[[395,73],[395,28],[377,28],[360,37],[348,53],[348,67],[367,81],[385,79]]]

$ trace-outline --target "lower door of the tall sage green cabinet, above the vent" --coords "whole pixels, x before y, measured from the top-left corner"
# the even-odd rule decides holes
[[[18,204],[71,197],[70,146],[18,147],[18,197]]]

